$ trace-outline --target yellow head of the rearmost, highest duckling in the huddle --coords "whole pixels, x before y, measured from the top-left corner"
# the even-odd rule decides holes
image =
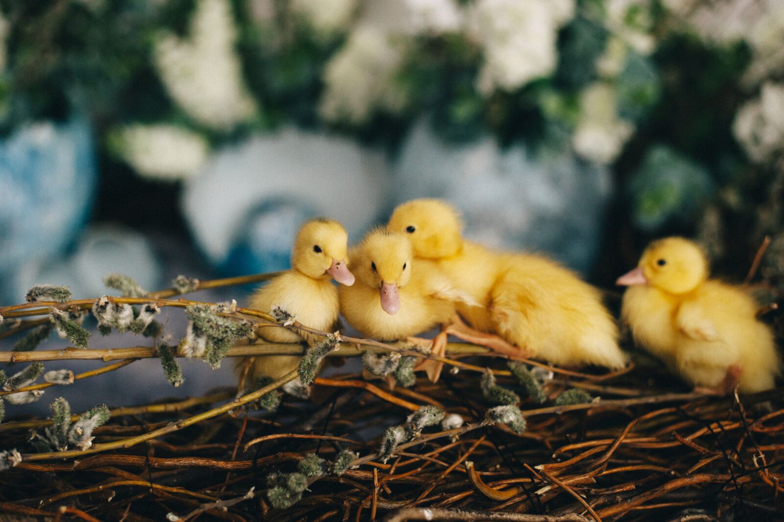
[[[414,254],[424,259],[451,257],[463,248],[463,220],[440,199],[415,199],[394,209],[387,227],[408,234]]]

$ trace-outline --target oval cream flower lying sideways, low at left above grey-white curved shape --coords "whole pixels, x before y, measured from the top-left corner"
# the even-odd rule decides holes
[[[113,132],[116,153],[141,176],[182,179],[207,158],[209,145],[201,135],[175,125],[128,125]]]

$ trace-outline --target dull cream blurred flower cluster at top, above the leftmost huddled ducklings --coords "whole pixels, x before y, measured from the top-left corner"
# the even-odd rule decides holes
[[[400,111],[405,95],[394,89],[393,80],[402,59],[389,34],[357,27],[325,67],[321,117],[361,124],[376,108]]]

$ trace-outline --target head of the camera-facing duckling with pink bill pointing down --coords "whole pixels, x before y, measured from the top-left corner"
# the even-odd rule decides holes
[[[378,288],[387,314],[400,310],[402,288],[411,278],[412,248],[408,237],[386,229],[372,230],[352,253],[351,270],[361,285]]]

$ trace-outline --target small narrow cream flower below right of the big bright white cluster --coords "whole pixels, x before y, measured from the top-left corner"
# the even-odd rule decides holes
[[[634,125],[618,116],[615,89],[603,82],[589,85],[580,94],[580,107],[572,136],[575,152],[595,163],[612,163],[634,132]]]

